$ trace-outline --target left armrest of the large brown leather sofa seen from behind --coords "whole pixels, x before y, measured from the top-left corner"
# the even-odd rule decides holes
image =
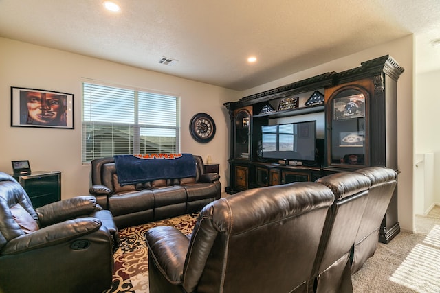
[[[146,232],[146,244],[157,268],[175,285],[183,282],[184,264],[190,239],[170,226],[151,228]]]

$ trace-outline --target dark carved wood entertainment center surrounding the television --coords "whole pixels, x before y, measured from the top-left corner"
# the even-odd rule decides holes
[[[404,69],[391,56],[329,72],[228,102],[231,119],[229,194],[369,166],[397,170],[397,80]],[[316,159],[267,159],[261,126],[316,120]],[[309,134],[308,132],[306,133]],[[296,141],[300,133],[291,134]],[[296,148],[292,143],[292,149]],[[382,221],[380,242],[400,231],[397,190]]]

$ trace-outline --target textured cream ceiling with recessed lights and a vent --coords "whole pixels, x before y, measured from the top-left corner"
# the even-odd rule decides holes
[[[412,33],[440,67],[438,0],[116,2],[0,0],[0,36],[239,91]]]

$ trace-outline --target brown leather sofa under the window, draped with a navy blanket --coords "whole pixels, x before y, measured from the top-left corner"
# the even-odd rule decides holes
[[[200,211],[221,195],[219,174],[205,173],[201,156],[194,156],[196,175],[158,179],[121,186],[113,157],[91,161],[90,194],[109,209],[118,228]]]

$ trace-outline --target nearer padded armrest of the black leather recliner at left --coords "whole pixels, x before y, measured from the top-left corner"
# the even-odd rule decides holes
[[[71,239],[94,233],[101,226],[98,218],[68,220],[10,240],[1,250],[1,254],[12,255],[69,242]]]

